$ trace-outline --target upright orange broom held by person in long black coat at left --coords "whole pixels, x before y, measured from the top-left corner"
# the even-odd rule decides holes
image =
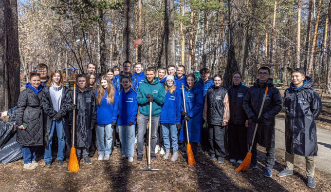
[[[74,104],[76,104],[76,82],[74,81]],[[70,172],[77,173],[79,171],[79,164],[78,164],[78,159],[76,155],[76,149],[74,147],[74,131],[75,131],[75,111],[73,112],[73,146],[71,147],[70,150],[70,158],[69,158],[69,166],[68,170]]]

